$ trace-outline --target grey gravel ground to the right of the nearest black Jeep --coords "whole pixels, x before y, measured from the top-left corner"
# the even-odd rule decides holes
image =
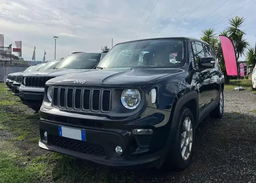
[[[256,182],[256,95],[225,90],[224,97],[223,118],[199,125],[188,169],[141,170],[134,182]]]

